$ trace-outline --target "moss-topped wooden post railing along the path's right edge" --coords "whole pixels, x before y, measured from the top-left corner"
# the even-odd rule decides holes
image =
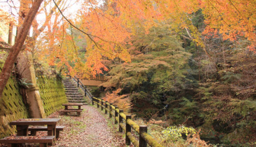
[[[105,114],[109,114],[109,118],[114,116],[115,124],[118,123],[119,132],[125,132],[126,145],[133,143],[135,147],[147,147],[147,144],[151,147],[163,147],[152,136],[147,133],[146,125],[138,125],[131,120],[131,115],[126,115],[123,110],[114,106],[112,103],[108,103],[100,98],[92,97],[92,104],[96,103],[97,108],[105,111]],[[114,111],[114,112],[113,112]],[[131,133],[131,128],[139,134],[139,140]]]

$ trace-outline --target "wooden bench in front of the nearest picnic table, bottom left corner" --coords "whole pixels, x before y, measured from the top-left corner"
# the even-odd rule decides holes
[[[55,136],[10,136],[0,139],[1,144],[7,147],[18,147],[19,144],[39,143],[39,147],[47,147],[48,143],[53,143]]]

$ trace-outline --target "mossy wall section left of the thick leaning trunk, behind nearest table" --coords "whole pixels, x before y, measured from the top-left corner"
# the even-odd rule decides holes
[[[0,61],[0,71],[3,62]],[[0,98],[0,138],[15,133],[16,127],[10,126],[9,122],[22,118],[29,118],[29,111],[20,95],[19,86],[11,76]]]

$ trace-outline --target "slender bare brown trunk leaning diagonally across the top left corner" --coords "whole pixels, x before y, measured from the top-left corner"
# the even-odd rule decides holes
[[[28,32],[30,30],[32,21],[36,15],[36,12],[38,11],[41,3],[43,0],[34,0],[32,7],[30,11],[28,12],[27,16],[25,17],[24,23],[19,29],[19,33],[17,35],[17,40],[15,41],[15,44],[11,48],[7,59],[4,62],[2,71],[0,73],[0,98],[3,92],[3,88],[5,87],[12,71],[12,67],[14,65],[14,62],[22,49],[22,46],[25,42],[25,39],[28,35]]]

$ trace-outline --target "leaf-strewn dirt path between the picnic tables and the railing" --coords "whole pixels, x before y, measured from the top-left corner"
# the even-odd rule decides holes
[[[108,121],[99,109],[82,106],[81,116],[63,115],[56,112],[48,118],[61,118],[58,125],[65,125],[64,131],[53,147],[126,147],[125,139],[108,126]]]

